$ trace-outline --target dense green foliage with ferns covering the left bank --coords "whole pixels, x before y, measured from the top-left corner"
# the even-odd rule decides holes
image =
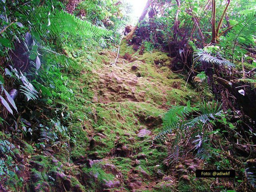
[[[66,12],[66,5],[60,1],[0,2],[1,131],[33,140],[38,148],[57,141],[63,141],[65,145],[70,140],[65,125],[70,114],[64,117],[62,111],[56,110],[52,116],[49,105],[56,100],[68,102],[74,99],[68,84],[69,76],[84,67],[76,59],[78,54],[84,52],[89,61],[92,50],[119,41],[116,31],[123,27],[127,18],[121,14],[122,4],[115,6],[112,3],[95,1],[88,9],[83,2],[79,8],[86,8],[89,15],[79,18]],[[92,14],[100,7],[106,9],[105,12]],[[119,24],[114,26],[113,22]],[[72,45],[80,50],[68,55],[66,50],[72,49]],[[51,116],[50,120],[47,114]],[[60,117],[64,118],[60,120]],[[8,184],[19,191],[23,180],[14,171],[18,170],[13,158],[15,147],[5,139],[10,139],[10,135],[1,135],[0,140],[0,190]]]

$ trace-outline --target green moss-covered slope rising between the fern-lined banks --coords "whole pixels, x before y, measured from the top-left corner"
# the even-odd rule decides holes
[[[100,191],[104,182],[114,180],[120,184],[111,190],[130,191],[132,178],[139,182],[133,181],[138,191],[172,191],[170,184],[153,188],[167,171],[168,148],[152,145],[152,138],[161,131],[162,115],[171,105],[196,102],[198,95],[182,76],[170,71],[172,60],[163,52],[139,55],[123,42],[121,58],[113,66],[115,56],[100,52],[81,73],[70,77],[75,96],[67,107],[72,112],[69,132],[75,142],[70,144],[74,169],[71,166],[68,172],[76,175],[74,170],[80,166],[78,181],[90,191]],[[139,138],[142,129],[151,134]],[[92,167],[86,166],[88,159],[95,161]],[[108,164],[114,171],[105,168]]]

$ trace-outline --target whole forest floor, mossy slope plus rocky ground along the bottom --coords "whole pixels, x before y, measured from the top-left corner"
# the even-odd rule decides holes
[[[184,154],[169,170],[164,160],[171,144],[153,140],[168,108],[196,103],[198,94],[170,70],[166,53],[125,55],[113,65],[116,53],[104,50],[71,77],[75,97],[64,104],[72,117],[67,148],[39,152],[22,141],[17,154],[27,160],[20,174],[31,191],[209,191],[209,182],[194,178],[201,160]]]

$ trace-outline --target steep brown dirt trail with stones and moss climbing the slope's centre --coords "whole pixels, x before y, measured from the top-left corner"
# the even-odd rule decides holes
[[[169,70],[171,60],[162,52],[134,56],[132,61],[120,58],[112,65],[115,57],[112,52],[101,52],[103,66],[93,70],[92,102],[98,122],[88,133],[91,169],[100,167],[115,176],[110,182],[98,180],[103,182],[98,186],[105,188],[100,190],[168,190],[176,180],[175,176],[165,176],[163,161],[168,148],[153,144],[153,138],[161,130],[168,107],[184,104],[196,95]],[[94,176],[89,172],[86,178],[96,180]]]

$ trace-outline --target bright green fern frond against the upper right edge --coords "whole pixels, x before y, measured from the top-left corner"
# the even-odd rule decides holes
[[[234,60],[240,60],[241,56],[246,54],[247,47],[256,48],[256,12],[250,12],[241,16],[242,22],[239,22],[220,42],[225,51],[225,56]]]

